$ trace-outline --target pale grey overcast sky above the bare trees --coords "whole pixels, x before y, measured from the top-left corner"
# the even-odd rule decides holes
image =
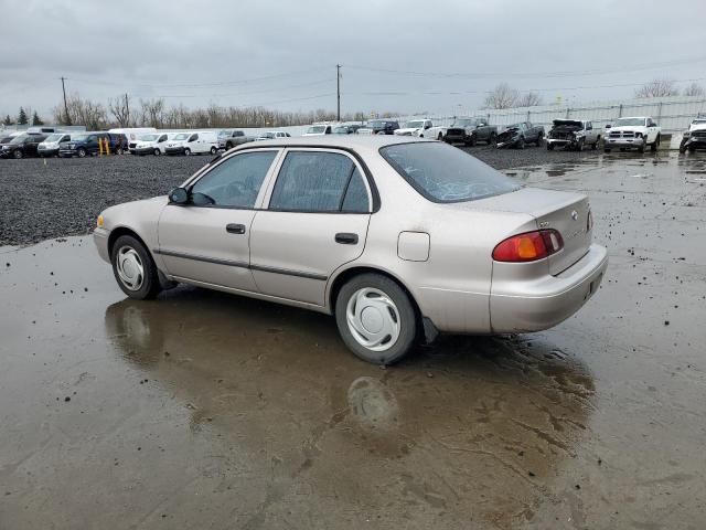
[[[23,0],[2,13],[0,114],[49,117],[61,76],[101,103],[333,110],[336,63],[344,113],[466,114],[502,81],[629,98],[654,77],[706,85],[705,20],[705,0]]]

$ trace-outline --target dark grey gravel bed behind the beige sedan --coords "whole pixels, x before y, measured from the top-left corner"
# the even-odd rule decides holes
[[[593,151],[467,148],[498,169],[575,161]],[[0,245],[86,234],[107,206],[165,194],[212,157],[0,160]]]

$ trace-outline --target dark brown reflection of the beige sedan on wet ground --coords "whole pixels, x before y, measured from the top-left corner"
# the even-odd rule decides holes
[[[496,528],[500,511],[522,513],[545,501],[537,481],[563,484],[575,448],[591,435],[590,372],[542,338],[530,348],[526,338],[454,337],[402,372],[361,370],[355,358],[341,354],[343,344],[320,315],[272,311],[264,301],[191,287],[161,304],[114,304],[105,328],[133,379],[149,379],[149,392],[136,392],[153,413],[146,427],[169,433],[151,443],[169,444],[164,456],[171,453],[174,462],[202,455],[191,467],[208,474],[210,484],[223,484],[223,474],[233,490],[252,491],[239,500],[240,512],[257,511],[276,481],[307,492],[292,497],[288,509],[309,513],[304,507],[323,506],[343,513],[350,497],[330,491],[368,491],[370,484],[414,468],[409,480],[424,484],[431,501],[453,502],[450,517],[472,516]],[[176,453],[180,443],[185,454]],[[194,453],[200,446],[203,452]],[[242,463],[247,473],[238,471]],[[527,469],[536,480],[517,479]],[[403,480],[399,487],[408,486]],[[482,500],[457,505],[449,488]],[[312,504],[320,496],[325,502]],[[409,502],[405,495],[379,505],[366,498],[361,502],[383,511]],[[232,517],[231,509],[226,513]]]

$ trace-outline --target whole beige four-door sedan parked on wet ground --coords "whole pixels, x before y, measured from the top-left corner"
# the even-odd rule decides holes
[[[131,298],[176,283],[334,315],[375,363],[449,333],[549,328],[608,263],[585,195],[522,188],[443,142],[327,136],[246,144],[94,232]]]

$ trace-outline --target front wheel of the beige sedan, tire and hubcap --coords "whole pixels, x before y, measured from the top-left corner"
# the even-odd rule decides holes
[[[120,290],[136,300],[154,298],[161,290],[157,265],[145,245],[131,235],[121,235],[110,252],[113,274]]]

